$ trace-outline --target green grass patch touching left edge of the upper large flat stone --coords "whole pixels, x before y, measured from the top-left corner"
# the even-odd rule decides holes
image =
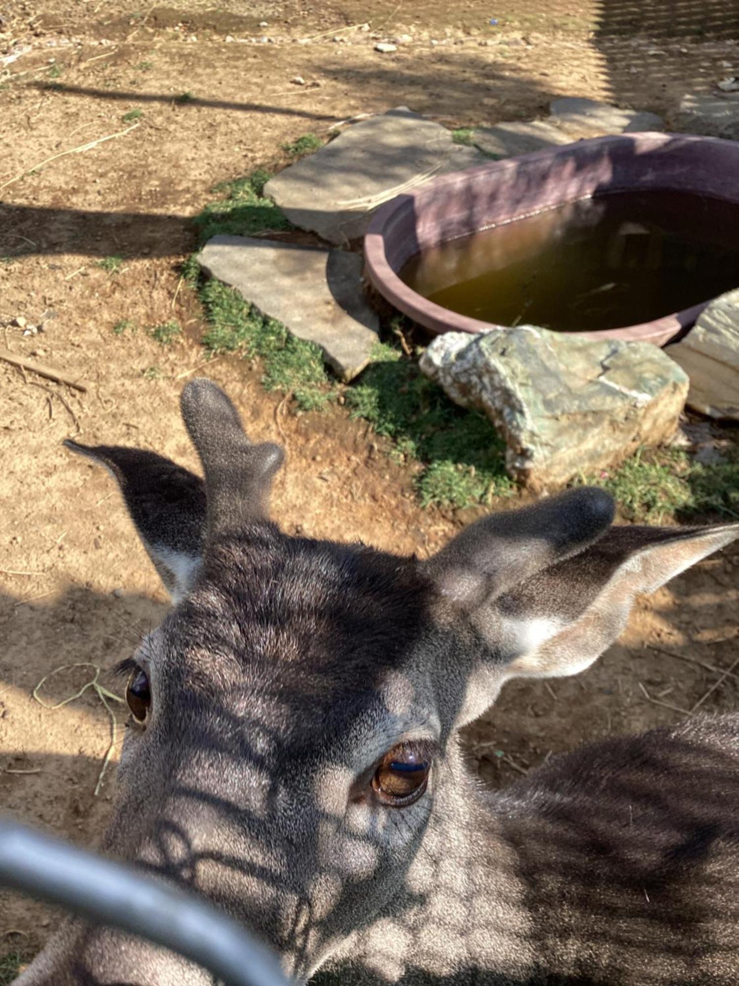
[[[248,237],[265,231],[292,230],[292,223],[272,199],[264,197],[264,185],[270,177],[268,172],[256,171],[216,185],[213,190],[226,195],[211,202],[195,218],[198,246],[222,233]]]

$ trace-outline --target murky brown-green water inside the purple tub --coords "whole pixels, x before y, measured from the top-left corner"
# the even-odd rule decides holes
[[[500,325],[619,328],[739,287],[739,206],[600,195],[437,246],[401,277],[443,308]]]

